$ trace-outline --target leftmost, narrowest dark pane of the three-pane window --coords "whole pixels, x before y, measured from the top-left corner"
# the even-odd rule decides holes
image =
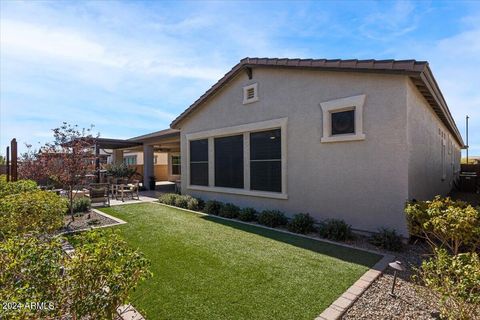
[[[190,141],[190,184],[208,186],[208,139]]]

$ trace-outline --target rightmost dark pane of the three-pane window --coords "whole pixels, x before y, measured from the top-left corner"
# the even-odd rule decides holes
[[[280,129],[250,134],[250,189],[282,192]]]

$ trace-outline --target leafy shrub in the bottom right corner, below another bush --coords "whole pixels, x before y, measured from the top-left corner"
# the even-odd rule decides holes
[[[452,256],[445,249],[435,249],[434,256],[423,261],[417,278],[437,296],[442,318],[480,318],[478,253]]]

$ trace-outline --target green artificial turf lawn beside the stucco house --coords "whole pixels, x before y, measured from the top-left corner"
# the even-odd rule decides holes
[[[147,319],[314,319],[380,256],[156,203],[102,211],[152,266]]]

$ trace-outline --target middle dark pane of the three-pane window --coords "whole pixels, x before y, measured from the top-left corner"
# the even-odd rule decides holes
[[[215,186],[243,188],[243,135],[215,138]]]

